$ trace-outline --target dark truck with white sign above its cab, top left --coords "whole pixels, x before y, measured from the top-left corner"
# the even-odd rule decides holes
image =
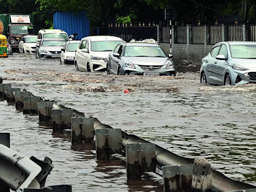
[[[2,34],[7,36],[11,52],[18,50],[18,43],[23,36],[34,35],[33,14],[0,14],[3,25]]]

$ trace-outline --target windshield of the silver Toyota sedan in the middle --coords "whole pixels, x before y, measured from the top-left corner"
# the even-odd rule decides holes
[[[166,57],[166,54],[158,46],[126,46],[124,56],[137,57]]]

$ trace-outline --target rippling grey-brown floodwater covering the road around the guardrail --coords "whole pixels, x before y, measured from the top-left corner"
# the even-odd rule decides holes
[[[191,66],[193,67],[193,66]],[[5,82],[55,99],[102,123],[139,135],[185,157],[202,156],[236,180],[256,180],[256,85],[200,85],[198,72],[179,68],[176,77],[114,76],[75,71],[59,60],[14,54],[0,60]],[[124,94],[123,89],[131,91]],[[69,134],[52,135],[0,101],[0,131],[10,132],[11,148],[52,159],[46,185],[72,184],[73,191],[162,191],[150,173],[126,181],[125,159],[95,159],[94,144],[72,146]]]

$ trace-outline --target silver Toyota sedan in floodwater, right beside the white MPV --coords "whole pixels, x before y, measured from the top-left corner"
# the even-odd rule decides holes
[[[107,63],[108,74],[119,75],[176,75],[176,67],[157,44],[151,43],[119,43],[109,53]]]

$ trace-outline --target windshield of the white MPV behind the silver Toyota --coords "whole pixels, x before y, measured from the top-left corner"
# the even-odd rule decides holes
[[[112,51],[113,48],[122,41],[105,40],[91,41],[91,51]]]

